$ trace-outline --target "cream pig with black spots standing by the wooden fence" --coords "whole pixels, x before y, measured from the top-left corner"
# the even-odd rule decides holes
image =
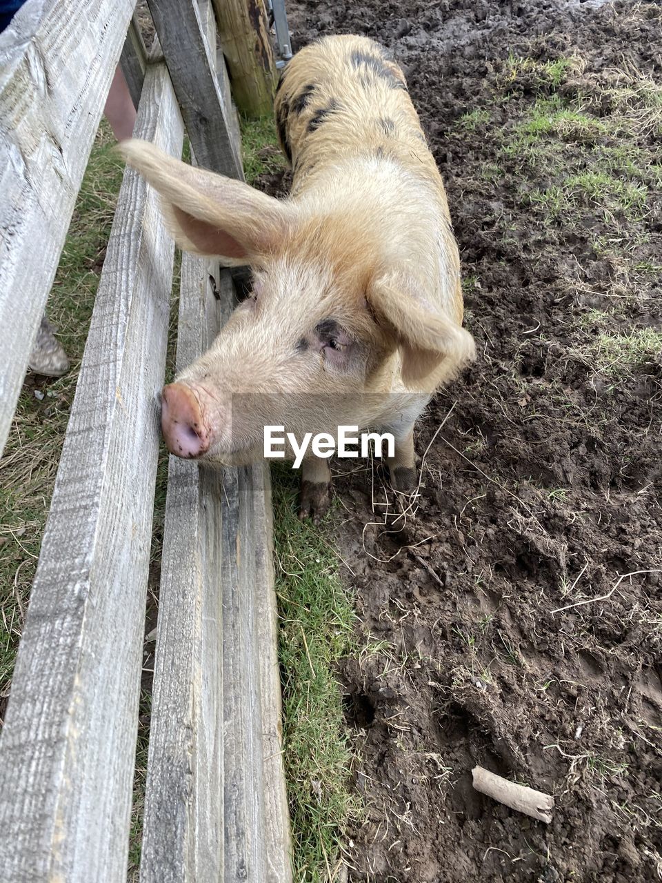
[[[397,491],[418,485],[413,428],[474,358],[444,185],[402,70],[378,43],[327,36],[287,65],[275,97],[293,180],[284,200],[139,140],[128,162],[162,195],[181,248],[252,268],[252,295],[162,391],[171,453],[263,456],[264,427],[395,437]],[[329,503],[328,460],[301,467],[299,517]]]

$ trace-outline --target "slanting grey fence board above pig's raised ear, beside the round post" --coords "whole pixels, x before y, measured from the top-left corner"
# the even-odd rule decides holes
[[[147,0],[198,163],[244,178],[194,0]]]

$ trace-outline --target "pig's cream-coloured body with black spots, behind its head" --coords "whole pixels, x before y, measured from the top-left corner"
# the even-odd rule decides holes
[[[430,303],[462,325],[446,192],[402,71],[385,50],[358,36],[302,49],[285,70],[275,117],[293,169],[291,198],[323,205],[338,223],[365,215],[361,246],[406,268]],[[431,392],[449,367],[439,366]]]

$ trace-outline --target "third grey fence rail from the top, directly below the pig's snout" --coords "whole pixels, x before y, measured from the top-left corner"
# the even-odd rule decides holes
[[[178,370],[207,350],[218,325],[207,261],[184,254]],[[222,879],[221,505],[218,473],[170,457],[142,883]]]

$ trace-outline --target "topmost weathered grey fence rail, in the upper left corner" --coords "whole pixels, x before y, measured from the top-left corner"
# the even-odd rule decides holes
[[[0,34],[0,452],[134,5],[33,0]]]

